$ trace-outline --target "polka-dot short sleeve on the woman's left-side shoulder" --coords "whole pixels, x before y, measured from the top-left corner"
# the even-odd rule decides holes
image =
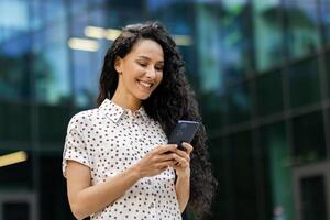
[[[86,142],[84,141],[82,134],[79,132],[77,124],[78,120],[73,118],[67,129],[62,162],[62,172],[64,177],[66,177],[67,160],[79,162],[88,167],[90,166]]]

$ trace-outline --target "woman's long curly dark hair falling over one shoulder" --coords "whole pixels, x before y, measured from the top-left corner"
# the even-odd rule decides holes
[[[176,43],[165,28],[153,21],[127,25],[113,42],[105,56],[100,76],[98,106],[114,95],[118,85],[118,73],[114,69],[117,56],[123,58],[140,40],[157,42],[164,51],[163,80],[152,95],[142,101],[146,113],[162,124],[167,138],[178,120],[196,120],[201,123],[195,94],[190,88],[184,68],[184,61],[177,51]],[[189,210],[199,219],[207,218],[216,191],[217,180],[211,172],[208,158],[207,135],[200,125],[191,145],[190,155],[190,199]]]

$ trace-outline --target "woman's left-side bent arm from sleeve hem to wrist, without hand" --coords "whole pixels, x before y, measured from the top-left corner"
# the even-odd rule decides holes
[[[72,211],[84,219],[112,204],[141,177],[134,167],[109,177],[105,183],[90,186],[89,167],[75,161],[67,162],[67,193]]]

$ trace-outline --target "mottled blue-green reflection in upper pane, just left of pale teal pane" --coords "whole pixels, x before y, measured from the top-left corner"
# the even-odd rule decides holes
[[[249,2],[226,0],[220,14],[221,47],[219,50],[224,84],[228,84],[243,79],[252,69]]]

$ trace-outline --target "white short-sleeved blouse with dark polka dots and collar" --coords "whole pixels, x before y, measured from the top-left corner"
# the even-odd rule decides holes
[[[90,168],[91,183],[97,185],[166,143],[161,124],[143,107],[132,113],[106,99],[99,108],[72,118],[63,152],[63,174],[66,176],[66,160],[73,160]],[[173,168],[141,178],[113,204],[91,215],[91,219],[180,220],[174,182]]]

